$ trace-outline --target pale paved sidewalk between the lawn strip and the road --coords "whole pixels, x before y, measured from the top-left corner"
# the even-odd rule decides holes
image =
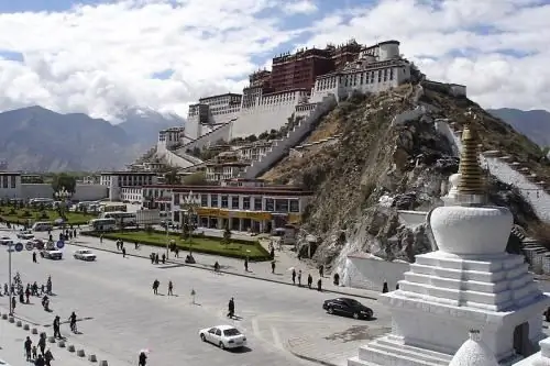
[[[88,247],[97,251],[120,253],[120,251],[117,249],[114,241],[105,239],[103,243],[100,244],[99,239],[94,236],[80,235],[70,241],[70,245]],[[150,260],[150,255],[153,252],[158,253],[160,255],[166,253],[165,248],[158,246],[140,245],[139,249],[135,249],[134,245],[130,243],[124,244],[124,246],[127,248],[127,255],[143,257],[146,258],[147,260]],[[188,252],[180,252],[179,253],[180,258],[174,258],[174,254],[170,253],[167,263],[185,264],[185,256],[187,255],[187,253]],[[190,267],[212,270],[213,264],[218,262],[220,264],[220,271],[229,275],[250,277],[250,278],[292,286],[293,285],[292,269],[289,268],[294,267],[296,268],[296,271],[301,269],[302,284],[307,285],[308,274],[311,274],[311,276],[314,277],[314,286],[317,286],[317,280],[319,279],[319,271],[316,268],[314,268],[310,264],[298,260],[294,255],[294,253],[286,248],[284,248],[280,252],[275,251],[275,262],[276,262],[275,274],[272,274],[271,262],[249,263],[249,271],[245,271],[244,262],[242,259],[207,255],[200,253],[193,253],[193,256],[195,257],[196,264],[194,265],[185,264],[185,265]],[[354,296],[371,300],[377,300],[378,297],[378,292],[375,291],[334,286],[332,284],[332,278],[327,275],[322,279],[322,289],[326,292],[332,292],[342,296]]]

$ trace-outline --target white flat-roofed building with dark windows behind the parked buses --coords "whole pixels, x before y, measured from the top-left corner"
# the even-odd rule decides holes
[[[143,187],[157,182],[156,173],[148,171],[109,171],[101,173],[100,185],[109,188],[109,200],[122,200],[122,187]]]

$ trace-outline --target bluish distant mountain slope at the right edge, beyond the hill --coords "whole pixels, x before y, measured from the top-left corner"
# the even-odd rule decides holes
[[[513,108],[490,109],[487,111],[539,146],[550,146],[550,112],[544,110],[522,111]]]

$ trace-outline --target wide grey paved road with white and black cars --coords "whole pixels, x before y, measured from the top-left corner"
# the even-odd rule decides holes
[[[105,252],[97,252],[97,262],[84,263],[72,257],[75,249],[65,247],[61,262],[38,258],[38,264],[32,263],[31,252],[12,255],[13,275],[18,270],[24,284],[45,282],[50,275],[55,293],[52,313],[42,309],[38,298],[31,300],[33,304],[18,303],[15,313],[50,325],[55,314],[66,319],[76,311],[86,319],[78,323],[81,334],[69,335],[68,325],[62,326],[62,334],[111,365],[135,364],[138,352],[144,347],[152,351],[152,365],[172,365],[175,359],[185,365],[302,365],[309,363],[287,351],[289,339],[316,334],[324,334],[326,340],[334,334],[338,339],[338,334],[358,328],[376,333],[391,324],[389,314],[376,301],[358,299],[374,309],[377,320],[356,321],[322,311],[322,301],[333,295],[180,265],[155,266],[146,259]],[[0,268],[6,269],[0,274],[3,284],[8,278],[8,254],[3,248]],[[154,279],[161,281],[160,296],[152,293]],[[168,280],[174,282],[174,297],[165,296]],[[191,289],[197,292],[198,304],[191,303]],[[222,352],[200,342],[197,334],[201,328],[228,323],[226,312],[231,297],[242,319],[229,322],[248,334],[250,350],[244,352]],[[7,297],[0,298],[0,307],[8,308]],[[358,336],[366,337],[364,333]],[[0,356],[6,357],[2,351]]]

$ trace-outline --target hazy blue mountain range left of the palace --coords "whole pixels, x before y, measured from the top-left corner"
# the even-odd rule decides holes
[[[121,169],[156,143],[158,131],[185,122],[175,114],[129,109],[119,124],[35,106],[0,113],[0,160],[10,170]]]

